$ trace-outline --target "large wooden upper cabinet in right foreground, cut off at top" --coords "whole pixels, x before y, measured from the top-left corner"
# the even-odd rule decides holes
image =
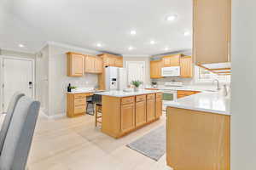
[[[193,57],[197,65],[230,62],[231,0],[194,0]]]

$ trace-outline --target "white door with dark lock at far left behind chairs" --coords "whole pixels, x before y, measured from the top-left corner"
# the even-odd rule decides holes
[[[17,91],[33,97],[33,83],[32,60],[3,58],[3,111]]]

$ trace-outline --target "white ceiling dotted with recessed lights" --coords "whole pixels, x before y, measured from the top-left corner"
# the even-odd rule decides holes
[[[192,48],[192,36],[183,35],[192,32],[192,0],[0,0],[0,5],[0,48],[37,52],[48,41],[131,55]],[[167,21],[172,14],[177,20]]]

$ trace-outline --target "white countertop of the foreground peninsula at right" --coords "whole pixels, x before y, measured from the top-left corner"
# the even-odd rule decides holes
[[[230,98],[224,97],[218,92],[202,92],[177,99],[177,101],[167,102],[165,105],[180,109],[231,115]]]

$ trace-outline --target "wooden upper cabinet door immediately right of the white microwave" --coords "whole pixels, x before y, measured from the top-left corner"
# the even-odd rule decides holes
[[[192,57],[185,56],[180,59],[180,71],[183,78],[193,77]]]

